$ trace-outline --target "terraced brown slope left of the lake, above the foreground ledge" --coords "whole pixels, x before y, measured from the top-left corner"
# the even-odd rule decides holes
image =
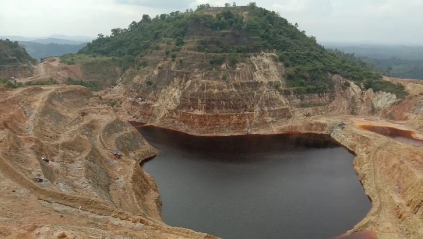
[[[84,87],[16,91],[2,103],[19,107],[0,109],[0,170],[5,177],[48,203],[164,224],[157,187],[140,167],[157,150],[135,128]],[[83,110],[87,116],[81,116]],[[115,148],[124,153],[117,166],[107,162]],[[54,160],[43,162],[44,155]],[[38,184],[35,177],[50,182]]]

